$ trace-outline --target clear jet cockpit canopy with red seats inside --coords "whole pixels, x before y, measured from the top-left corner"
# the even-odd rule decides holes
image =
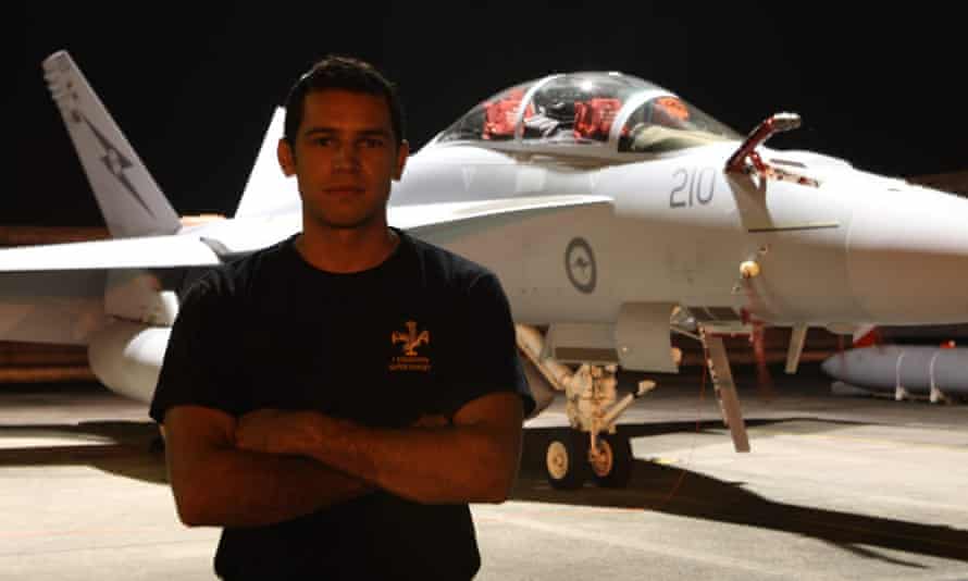
[[[674,94],[621,73],[569,73],[479,103],[434,143],[573,154],[658,153],[742,136]]]

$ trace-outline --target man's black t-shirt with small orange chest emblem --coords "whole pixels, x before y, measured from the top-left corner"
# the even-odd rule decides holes
[[[396,428],[493,392],[520,393],[528,413],[534,400],[497,277],[398,234],[397,250],[359,273],[317,270],[293,236],[200,279],[172,327],[151,417],[184,404],[233,416],[314,409]],[[215,556],[226,578],[469,579],[479,567],[466,504],[384,491],[226,528]]]

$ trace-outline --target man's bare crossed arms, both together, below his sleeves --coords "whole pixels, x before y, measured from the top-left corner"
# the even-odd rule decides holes
[[[495,393],[446,424],[367,428],[312,411],[165,415],[169,475],[188,526],[270,524],[384,489],[443,504],[502,502],[517,475],[520,396]]]

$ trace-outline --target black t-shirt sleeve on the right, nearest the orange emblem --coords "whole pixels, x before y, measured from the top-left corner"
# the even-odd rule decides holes
[[[487,272],[471,283],[461,319],[462,390],[454,409],[491,393],[512,392],[521,396],[524,415],[531,413],[534,397],[518,356],[508,298],[496,275]]]

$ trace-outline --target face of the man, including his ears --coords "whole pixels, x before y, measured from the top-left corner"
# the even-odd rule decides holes
[[[355,228],[385,222],[390,182],[409,152],[397,147],[383,97],[343,89],[306,96],[295,147],[280,140],[280,163],[296,175],[302,212],[318,224]]]

